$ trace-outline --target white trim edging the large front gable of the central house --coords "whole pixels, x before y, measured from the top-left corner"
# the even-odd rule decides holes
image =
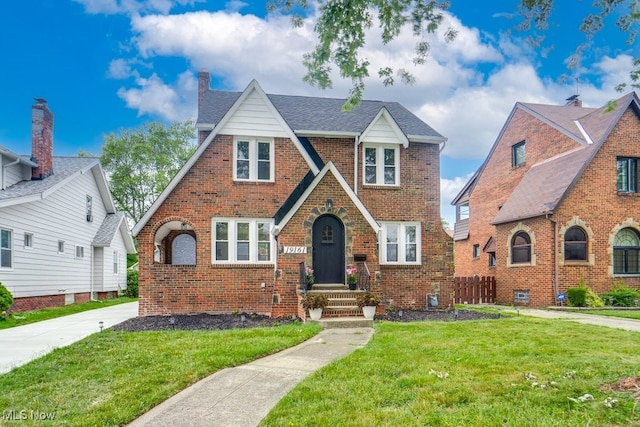
[[[176,186],[182,180],[182,178],[185,177],[185,175],[187,174],[187,172],[189,172],[191,167],[196,163],[196,161],[198,161],[198,159],[200,158],[202,153],[204,153],[205,150],[209,147],[209,145],[211,144],[213,139],[220,132],[220,129],[224,128],[224,126],[227,124],[229,119],[238,110],[240,105],[242,105],[242,103],[247,99],[247,97],[254,91],[262,98],[262,100],[265,102],[265,105],[268,106],[268,108],[273,113],[273,115],[276,118],[276,120],[282,126],[284,132],[289,136],[289,138],[291,138],[291,140],[293,141],[293,144],[296,146],[296,148],[298,149],[298,151],[300,152],[302,157],[305,159],[305,161],[307,162],[307,165],[309,166],[309,169],[311,169],[313,174],[317,175],[320,172],[320,170],[318,169],[316,164],[311,159],[311,156],[309,155],[309,153],[307,153],[307,151],[302,146],[302,143],[300,142],[300,140],[298,139],[296,134],[291,130],[289,125],[287,125],[287,122],[285,122],[284,119],[282,118],[282,115],[280,115],[278,110],[273,106],[273,103],[271,102],[271,100],[269,99],[267,94],[262,90],[262,88],[260,87],[260,85],[258,84],[258,82],[256,80],[252,80],[251,83],[249,83],[249,86],[247,86],[247,88],[244,90],[244,92],[242,92],[240,97],[231,106],[229,111],[226,112],[226,114],[224,115],[224,117],[222,117],[220,122],[218,122],[215,125],[215,127],[211,130],[211,133],[202,142],[202,144],[200,144],[200,146],[198,147],[196,152],[193,153],[191,158],[189,158],[189,160],[187,161],[187,163],[185,163],[185,165],[182,167],[182,169],[180,169],[180,171],[173,177],[173,179],[171,180],[169,185],[167,185],[167,187],[160,194],[160,196],[158,196],[156,201],[153,202],[153,204],[151,205],[149,210],[147,210],[147,212],[144,214],[144,216],[142,218],[140,218],[140,221],[138,221],[136,223],[136,225],[133,227],[133,235],[134,236],[138,235],[138,233],[142,230],[142,228],[147,224],[149,219],[151,219],[151,217],[160,208],[162,203],[164,203],[164,201],[167,199],[167,197],[169,197],[169,194],[171,194],[171,192],[176,188]],[[276,167],[278,167],[278,166],[276,165]],[[232,177],[229,177],[229,179],[232,179]]]

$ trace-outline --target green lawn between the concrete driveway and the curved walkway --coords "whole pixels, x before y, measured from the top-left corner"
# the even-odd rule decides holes
[[[46,425],[124,425],[220,369],[291,347],[318,331],[301,323],[226,331],[108,329],[0,375],[0,408],[54,414]]]

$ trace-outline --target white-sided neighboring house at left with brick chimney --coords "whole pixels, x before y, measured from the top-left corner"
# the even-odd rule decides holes
[[[32,155],[0,146],[0,282],[12,310],[117,296],[127,286],[128,223],[100,161],[53,156],[53,114],[32,107]]]

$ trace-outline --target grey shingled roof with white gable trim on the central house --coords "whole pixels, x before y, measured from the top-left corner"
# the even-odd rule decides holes
[[[268,95],[255,80],[243,92],[207,90],[202,94],[202,102],[198,107],[196,126],[201,130],[210,129],[211,133],[133,227],[134,235],[142,230],[243,101],[254,93],[265,102],[269,111],[274,113],[274,117],[282,124],[283,130],[298,148],[314,175],[320,173],[325,165],[305,136],[355,137],[361,135],[381,116],[388,120],[398,135],[402,136],[400,140],[403,143],[406,138],[412,142],[434,144],[446,141],[446,138],[397,102],[362,101],[354,109],[344,111],[344,99]]]

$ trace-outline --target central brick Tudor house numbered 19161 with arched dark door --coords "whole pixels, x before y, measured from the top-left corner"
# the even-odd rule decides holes
[[[343,102],[267,95],[256,81],[214,91],[200,72],[200,145],[133,230],[140,315],[304,318],[301,265],[314,287],[346,289],[356,260],[380,310],[424,308],[428,293],[451,291],[445,138],[398,103],[347,112]]]

